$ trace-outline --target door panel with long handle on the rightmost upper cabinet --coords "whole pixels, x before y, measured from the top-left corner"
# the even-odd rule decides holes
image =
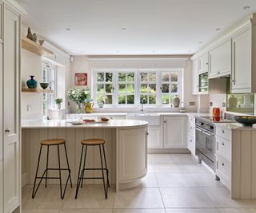
[[[251,30],[232,38],[232,93],[251,89]],[[243,90],[244,91],[243,91]]]

